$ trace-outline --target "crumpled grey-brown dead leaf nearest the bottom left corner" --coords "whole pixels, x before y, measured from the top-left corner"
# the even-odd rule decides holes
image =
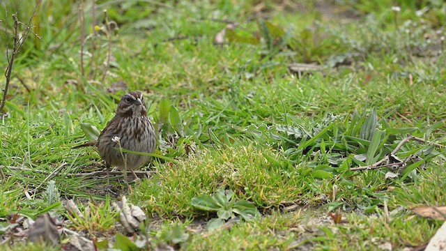
[[[51,245],[59,245],[60,236],[54,220],[48,213],[39,215],[36,222],[28,230],[28,239],[33,243],[43,241]]]

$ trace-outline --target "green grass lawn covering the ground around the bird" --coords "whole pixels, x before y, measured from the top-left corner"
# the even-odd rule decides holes
[[[106,26],[102,9],[119,27],[108,38],[93,34],[91,3],[84,3],[82,76],[79,6],[45,1],[33,19],[44,43],[29,38],[17,55],[0,121],[1,226],[14,214],[66,219],[59,200],[75,199],[90,220],[72,218],[66,227],[95,240],[106,236],[117,247],[122,238],[114,238],[118,217],[106,213],[105,176],[82,175],[102,170],[103,162],[93,149],[72,146],[88,140],[81,123],[100,130],[112,119],[125,91],[107,88],[123,81],[127,90],[144,92],[160,130],[156,153],[166,157],[144,167],[155,172],[129,191],[121,189],[122,175],[112,178],[148,215],[134,245],[402,250],[428,243],[441,222],[409,209],[445,205],[444,147],[404,144],[396,155],[417,154],[424,168],[408,163],[397,178],[385,178],[387,169],[350,168],[385,157],[407,133],[445,145],[444,4],[401,3],[396,12],[390,1],[97,1],[99,28]],[[29,3],[5,5],[23,22],[33,10]],[[239,26],[218,45],[222,20]],[[8,31],[11,23],[2,25]],[[101,82],[109,42],[111,67]],[[322,70],[289,70],[302,62]],[[0,65],[6,68],[6,57]],[[215,213],[191,200],[221,188],[263,216],[206,231]],[[334,224],[328,212],[338,211],[345,222]],[[12,236],[1,231],[0,241]],[[3,245],[33,250],[17,241]]]

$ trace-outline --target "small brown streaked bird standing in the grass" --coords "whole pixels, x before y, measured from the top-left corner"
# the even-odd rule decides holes
[[[144,98],[139,91],[125,93],[119,102],[116,115],[100,132],[98,140],[80,146],[96,146],[107,167],[107,189],[109,188],[109,168],[133,172],[146,163],[150,156],[121,153],[119,146],[128,151],[153,153],[156,146],[155,129],[147,116]]]

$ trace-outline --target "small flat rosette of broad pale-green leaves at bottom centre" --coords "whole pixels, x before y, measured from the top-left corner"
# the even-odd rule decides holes
[[[232,190],[221,188],[212,196],[200,195],[192,199],[192,206],[195,208],[217,212],[217,218],[209,220],[208,230],[212,231],[222,227],[227,220],[236,218],[236,215],[246,221],[251,221],[256,216],[261,215],[254,204],[245,199],[236,201],[233,195]]]

